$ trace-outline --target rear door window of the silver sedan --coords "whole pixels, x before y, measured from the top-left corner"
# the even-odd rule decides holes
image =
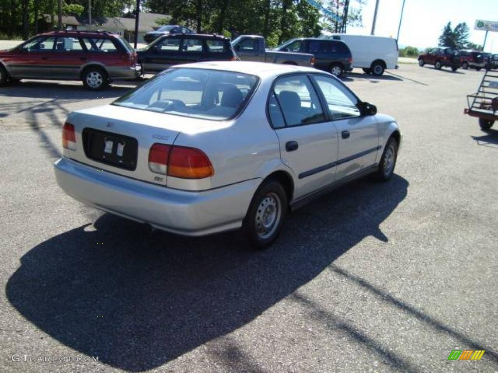
[[[273,100],[272,100],[273,97]],[[299,126],[323,122],[325,114],[309,78],[305,75],[282,77],[275,81],[270,95],[268,111],[270,120],[275,107],[281,110],[285,126]],[[273,114],[273,118],[277,118]],[[272,120],[274,128],[281,127],[278,119]]]

